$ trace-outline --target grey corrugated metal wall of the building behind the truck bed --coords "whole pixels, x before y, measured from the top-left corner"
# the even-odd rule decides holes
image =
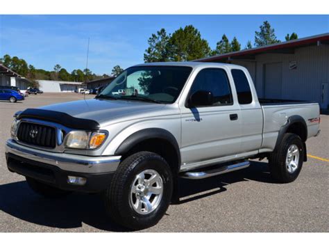
[[[289,70],[292,61],[296,61],[297,67]],[[321,83],[329,83],[329,45],[298,48],[294,54],[260,54],[255,61],[233,63],[247,67],[259,97],[264,97],[264,65],[267,63],[282,63],[282,99],[320,103]]]

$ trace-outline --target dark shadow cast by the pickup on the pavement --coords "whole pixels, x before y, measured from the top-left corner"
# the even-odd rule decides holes
[[[180,179],[180,202],[186,203],[226,191],[224,186],[254,180],[272,183],[267,164],[253,161],[249,168],[205,180]],[[210,191],[210,192],[208,192]],[[202,193],[202,195],[196,195]],[[188,197],[184,199],[185,197]],[[23,221],[51,228],[81,228],[83,224],[99,230],[126,232],[105,215],[101,196],[72,193],[63,199],[42,198],[28,188],[25,181],[0,185],[0,210]],[[84,231],[92,231],[83,229]],[[9,231],[9,230],[8,230]],[[26,231],[31,231],[28,228]]]

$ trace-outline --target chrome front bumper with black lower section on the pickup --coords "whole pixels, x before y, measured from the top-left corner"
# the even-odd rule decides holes
[[[6,143],[10,171],[71,191],[99,192],[106,189],[120,158],[45,152],[19,145],[12,139]],[[83,186],[69,184],[68,176],[85,177],[87,182]]]

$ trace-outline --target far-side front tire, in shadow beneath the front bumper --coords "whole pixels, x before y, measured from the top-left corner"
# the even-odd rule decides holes
[[[48,184],[39,182],[31,177],[26,177],[26,182],[35,193],[46,198],[63,198],[71,193],[71,191],[63,191],[62,189],[57,189],[55,187],[49,186]]]

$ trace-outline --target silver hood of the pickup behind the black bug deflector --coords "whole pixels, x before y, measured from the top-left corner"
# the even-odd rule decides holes
[[[86,99],[74,102],[65,102],[60,104],[51,104],[49,106],[42,106],[39,109],[49,111],[60,111],[67,113],[75,118],[86,118],[95,120],[102,125],[104,122],[111,120],[119,120],[119,118],[130,115],[131,118],[138,118],[143,112],[150,113],[158,112],[164,108],[165,104],[154,104],[149,102],[138,102],[128,100],[111,100],[111,99]]]

